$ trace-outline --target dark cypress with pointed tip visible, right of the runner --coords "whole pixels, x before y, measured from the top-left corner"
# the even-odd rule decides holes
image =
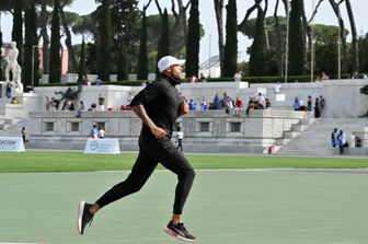
[[[254,39],[251,47],[249,61],[250,75],[266,74],[266,37],[264,30],[264,12],[258,8],[258,14],[255,23]]]

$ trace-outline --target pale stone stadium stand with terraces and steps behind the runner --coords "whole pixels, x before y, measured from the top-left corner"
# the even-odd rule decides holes
[[[272,107],[251,111],[249,116],[245,116],[243,111],[239,117],[227,116],[221,109],[195,111],[180,118],[177,126],[184,129],[185,150],[188,152],[266,153],[269,147],[274,147],[279,154],[331,155],[334,151],[325,147],[329,144],[326,138],[330,137],[331,127],[346,124],[346,131],[349,133],[363,131],[367,126],[364,119],[356,120],[358,115],[368,111],[368,96],[359,93],[359,89],[366,83],[366,80],[281,83],[280,93],[285,95],[285,101],[276,101],[274,84],[185,83],[177,86],[179,91],[187,98],[194,98],[198,108],[204,96],[211,102],[216,93],[221,97],[222,93],[227,92],[231,97],[240,97],[246,104],[249,97],[256,96],[260,91],[271,100]],[[74,101],[74,104],[83,101],[88,108],[91,103],[96,103],[99,94],[102,94],[105,97],[105,107],[113,107],[114,112],[87,112],[82,118],[76,118],[74,112],[46,112],[46,96],[58,98],[55,92],[66,89],[35,88],[35,93],[20,95],[19,105],[1,103],[0,115],[3,119],[0,117],[0,128],[2,126],[5,130],[0,130],[0,136],[19,136],[21,126],[26,125],[30,135],[28,148],[51,146],[55,149],[80,149],[85,143],[92,124],[104,123],[108,136],[119,138],[122,150],[137,149],[140,120],[133,112],[119,112],[116,108],[128,104],[129,98],[142,86],[83,86],[82,93]],[[306,103],[308,95],[313,97],[313,102],[315,96],[324,96],[325,111],[322,118],[314,119],[313,113],[292,111],[294,98],[298,96]],[[13,120],[10,121],[9,118]],[[346,123],[344,119],[347,119]],[[55,126],[51,131],[46,130],[49,123],[54,123]],[[210,131],[199,131],[202,123],[209,123]],[[77,124],[79,128],[72,131]],[[239,125],[240,131],[231,131],[232,126]],[[344,130],[343,127],[336,127]],[[353,149],[350,151],[354,153]]]

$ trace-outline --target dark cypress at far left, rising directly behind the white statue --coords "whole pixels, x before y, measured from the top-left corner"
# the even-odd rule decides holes
[[[15,0],[13,13],[12,40],[16,42],[19,49],[18,62],[23,65],[23,0]]]

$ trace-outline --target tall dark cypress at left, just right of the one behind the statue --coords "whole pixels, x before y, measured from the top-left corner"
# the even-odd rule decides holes
[[[30,0],[25,7],[24,67],[22,72],[23,74],[22,81],[24,85],[38,84],[38,48],[37,48],[38,39],[37,39],[37,13],[35,4],[36,3],[34,0]]]

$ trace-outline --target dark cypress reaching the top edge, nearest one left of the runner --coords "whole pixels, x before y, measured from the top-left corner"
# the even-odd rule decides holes
[[[112,19],[111,0],[103,0],[100,18],[101,42],[99,47],[99,78],[103,81],[110,81],[111,61],[112,61]]]

